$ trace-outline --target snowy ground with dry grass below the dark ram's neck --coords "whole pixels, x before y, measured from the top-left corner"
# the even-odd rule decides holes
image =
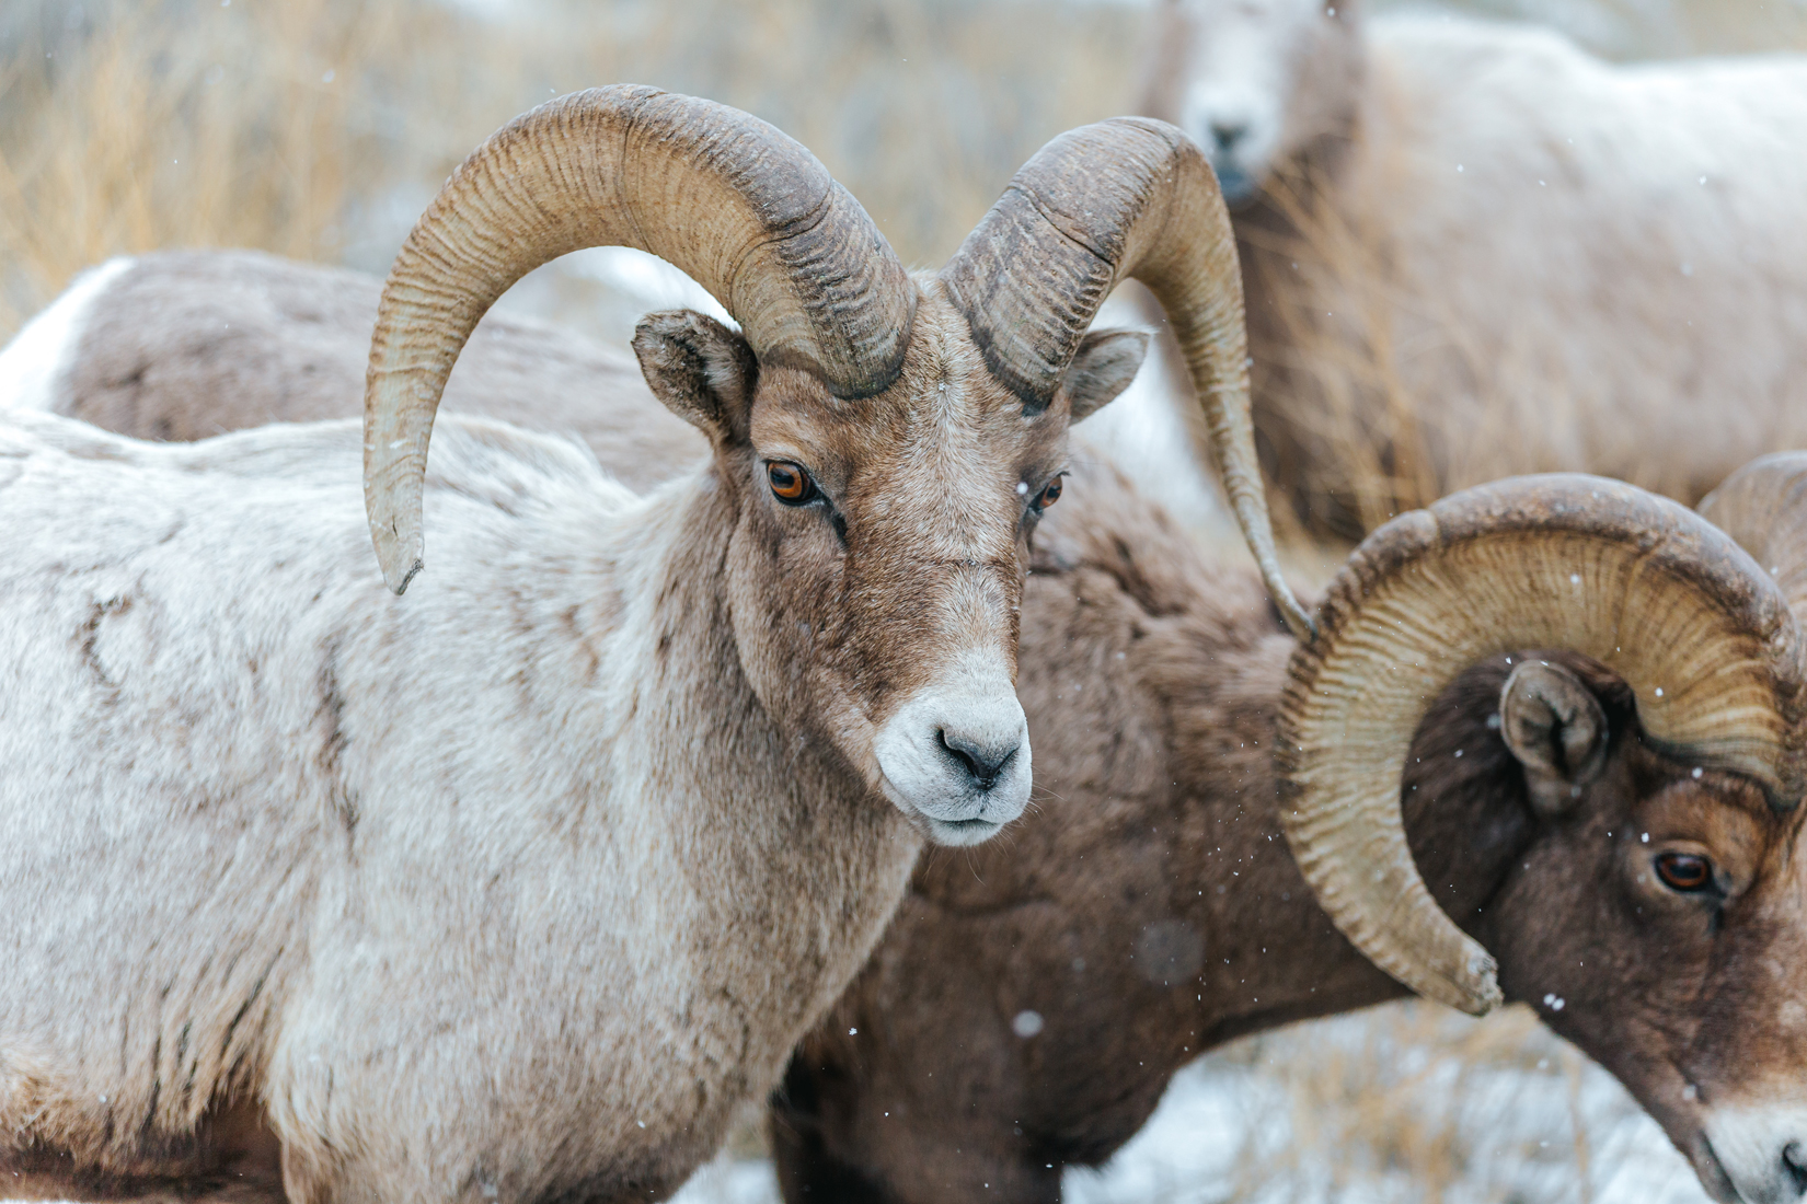
[[[1706,1204],[1619,1083],[1525,1013],[1390,1005],[1241,1042],[1175,1076],[1068,1204]],[[775,1204],[723,1155],[678,1204]]]

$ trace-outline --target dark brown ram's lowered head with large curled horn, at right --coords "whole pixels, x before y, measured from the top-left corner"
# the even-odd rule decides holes
[[[1281,816],[1343,933],[1467,1011],[1500,1000],[1498,955],[1500,984],[1612,1069],[1727,1202],[1807,1193],[1803,482],[1807,457],[1744,469],[1704,505],[1720,527],[1588,477],[1406,514],[1332,587],[1281,717]],[[1498,664],[1525,648],[1545,652]],[[1462,771],[1415,771],[1415,791],[1420,812],[1460,807],[1464,774],[1500,778],[1473,755],[1518,764],[1531,829],[1476,928],[1493,953],[1426,892],[1397,794],[1429,700],[1489,657],[1491,682],[1464,681],[1498,699],[1493,731],[1447,731],[1471,756],[1442,749]],[[1476,839],[1500,839],[1489,823]]]

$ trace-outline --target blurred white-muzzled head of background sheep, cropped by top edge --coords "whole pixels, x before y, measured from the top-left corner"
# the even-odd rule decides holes
[[[1234,208],[1341,134],[1362,74],[1359,0],[1166,0],[1149,112],[1198,139]]]

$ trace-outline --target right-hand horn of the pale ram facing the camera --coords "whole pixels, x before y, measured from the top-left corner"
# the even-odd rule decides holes
[[[1254,457],[1236,236],[1198,146],[1149,117],[1063,134],[941,269],[987,366],[1030,413],[1053,401],[1099,305],[1129,278],[1167,310],[1236,522],[1287,626],[1305,639],[1312,617],[1279,576]]]

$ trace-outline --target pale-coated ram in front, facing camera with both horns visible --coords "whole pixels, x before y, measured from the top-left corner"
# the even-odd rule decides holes
[[[777,130],[604,88],[492,137],[403,247],[369,520],[349,424],[152,446],[9,415],[11,1190],[670,1188],[857,973],[922,834],[1025,803],[1026,540],[1068,422],[1138,359],[1084,336],[1119,276],[1185,327],[1278,585],[1212,211],[1187,139],[1104,123],[909,278]],[[472,327],[591,244],[741,323],[636,334],[710,458],[634,498],[569,442],[446,419],[428,466]],[[423,500],[439,569],[398,601],[367,540],[405,588]]]

